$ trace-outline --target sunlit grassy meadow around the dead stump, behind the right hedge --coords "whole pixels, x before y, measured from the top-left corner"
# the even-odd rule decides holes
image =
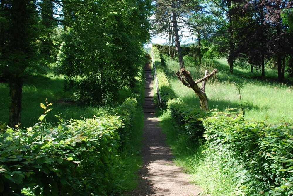
[[[199,98],[192,89],[183,86],[175,72],[178,62],[164,57],[169,82],[177,97],[181,97],[190,107],[199,108]],[[204,76],[205,69],[218,73],[207,81],[206,94],[209,99],[209,109],[223,111],[227,108],[239,108],[240,95],[245,111],[245,118],[267,120],[278,124],[282,121],[293,120],[293,86],[290,81],[279,83],[276,71],[266,69],[267,79],[262,79],[260,73],[250,73],[248,69],[234,68],[234,74],[229,74],[229,67],[224,59],[205,61],[203,65],[195,65],[191,57],[184,57],[186,70],[192,73],[193,79]],[[239,95],[239,88],[240,95]]]

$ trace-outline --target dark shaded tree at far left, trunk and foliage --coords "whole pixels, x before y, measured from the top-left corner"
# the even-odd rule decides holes
[[[8,125],[20,122],[23,79],[37,60],[38,17],[30,0],[0,1],[0,73],[8,80],[10,111]]]

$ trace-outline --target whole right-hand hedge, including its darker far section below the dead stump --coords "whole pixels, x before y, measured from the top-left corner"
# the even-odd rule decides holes
[[[205,141],[203,157],[217,152],[222,171],[234,173],[235,195],[293,195],[293,127],[244,120],[231,113],[191,109],[180,99],[168,110],[186,145]]]

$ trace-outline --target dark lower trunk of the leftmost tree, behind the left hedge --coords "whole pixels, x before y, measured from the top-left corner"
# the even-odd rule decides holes
[[[15,125],[20,123],[22,86],[23,81],[20,77],[12,78],[9,81],[11,102],[9,107],[8,126],[11,128],[14,128]]]

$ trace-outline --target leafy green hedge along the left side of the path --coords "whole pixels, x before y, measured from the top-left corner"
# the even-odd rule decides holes
[[[58,127],[42,115],[33,127],[3,130],[0,195],[107,195],[115,156],[130,138],[136,109],[136,100],[127,99],[110,114]]]

